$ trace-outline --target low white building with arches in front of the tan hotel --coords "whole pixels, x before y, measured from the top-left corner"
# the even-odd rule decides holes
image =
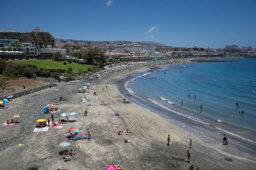
[[[9,48],[10,51],[35,52],[35,44],[34,43],[20,43],[20,46],[17,49],[17,47],[13,46],[13,44],[12,44],[15,41],[18,41],[18,40],[0,39],[0,49],[1,48]]]

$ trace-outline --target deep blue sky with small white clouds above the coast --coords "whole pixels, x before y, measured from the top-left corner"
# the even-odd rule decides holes
[[[175,47],[256,48],[255,0],[0,0],[0,30],[88,41],[153,41]],[[16,5],[14,5],[16,4]]]

